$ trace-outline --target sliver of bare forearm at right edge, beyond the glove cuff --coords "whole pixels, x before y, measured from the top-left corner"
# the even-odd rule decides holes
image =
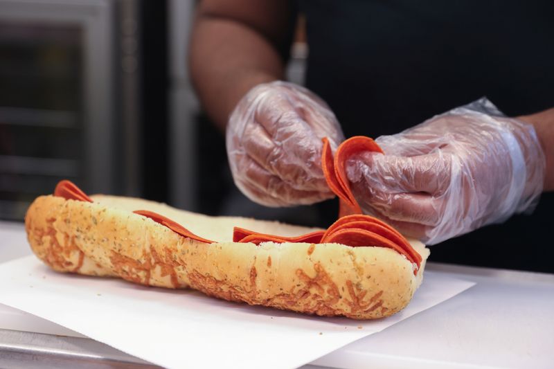
[[[535,127],[535,132],[546,156],[546,172],[544,173],[544,191],[554,190],[554,108],[540,111],[519,119]]]

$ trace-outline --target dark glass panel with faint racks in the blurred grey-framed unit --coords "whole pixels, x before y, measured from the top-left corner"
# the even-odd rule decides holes
[[[29,201],[83,159],[83,45],[79,26],[0,21],[0,219],[23,219]]]

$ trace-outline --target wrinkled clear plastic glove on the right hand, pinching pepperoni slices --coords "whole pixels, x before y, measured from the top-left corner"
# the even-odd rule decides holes
[[[482,98],[376,142],[347,160],[364,213],[436,244],[533,210],[545,159],[533,125]]]

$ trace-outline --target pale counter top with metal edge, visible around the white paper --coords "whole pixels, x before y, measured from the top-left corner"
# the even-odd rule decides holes
[[[0,262],[30,253],[22,224],[0,222]],[[554,274],[429,263],[476,286],[305,368],[551,368]],[[0,305],[2,368],[157,368]]]

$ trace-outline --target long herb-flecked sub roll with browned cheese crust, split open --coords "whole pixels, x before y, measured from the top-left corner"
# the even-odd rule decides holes
[[[423,258],[414,276],[404,256],[382,247],[231,242],[232,225],[280,235],[310,228],[207,217],[141,199],[96,195],[93,200],[42,196],[28,209],[30,246],[56,271],[193,288],[225,300],[306,314],[374,319],[408,305],[429,255],[423,244],[410,240]],[[221,242],[182,237],[131,211],[138,209],[172,217],[198,235]]]

